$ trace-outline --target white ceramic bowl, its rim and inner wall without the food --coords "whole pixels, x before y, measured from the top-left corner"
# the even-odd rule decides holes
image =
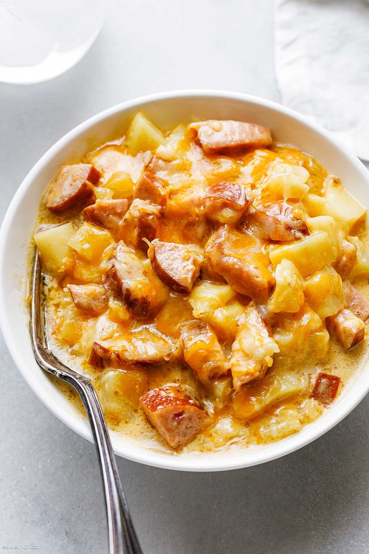
[[[41,193],[63,163],[78,161],[92,146],[122,135],[126,122],[144,110],[160,127],[169,128],[191,116],[202,119],[252,121],[273,130],[274,140],[291,143],[318,158],[339,176],[345,188],[369,206],[369,173],[362,163],[337,143],[322,127],[279,104],[238,93],[189,90],[155,94],[130,100],[97,114],[60,139],[25,177],[4,218],[0,231],[0,323],[19,371],[35,394],[64,423],[89,440],[87,419],[77,414],[34,361],[28,337],[25,309],[25,276],[30,235],[37,217]],[[369,390],[369,365],[345,387],[324,415],[301,432],[265,447],[232,453],[181,455],[153,452],[112,433],[119,456],[144,464],[187,471],[216,471],[261,464],[293,452],[347,416]]]

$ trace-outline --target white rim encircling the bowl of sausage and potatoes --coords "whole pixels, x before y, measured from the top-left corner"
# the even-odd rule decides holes
[[[140,96],[138,98],[127,100],[115,106],[109,107],[108,109],[98,112],[98,114],[93,115],[92,117],[89,117],[89,119],[81,122],[79,125],[74,127],[74,129],[67,132],[63,137],[61,137],[61,139],[55,142],[54,145],[51,146],[49,150],[44,153],[39,161],[35,163],[33,168],[28,172],[27,176],[25,176],[23,182],[20,184],[17,191],[15,192],[13,199],[9,204],[7,212],[4,216],[0,229],[0,268],[4,267],[4,262],[6,261],[6,245],[9,237],[9,228],[11,227],[19,203],[22,201],[24,193],[28,190],[38,173],[45,166],[48,165],[48,163],[53,159],[54,155],[61,148],[63,148],[69,142],[76,139],[79,135],[87,131],[91,126],[106,119],[107,117],[116,115],[120,112],[132,109],[134,107],[137,107],[137,109],[139,109],[142,104],[147,104],[148,102],[169,100],[174,98],[217,98],[236,100],[241,102],[243,101],[266,107],[273,111],[279,112],[279,114],[282,114],[283,116],[291,117],[304,126],[317,132],[319,135],[323,136],[323,139],[330,143],[330,145],[336,147],[340,151],[340,155],[346,158],[346,161],[354,166],[359,173],[361,173],[363,179],[367,182],[369,187],[369,172],[362,164],[362,162],[358,160],[353,152],[342,145],[340,141],[332,137],[328,131],[326,131],[316,122],[309,120],[307,117],[299,114],[298,112],[295,112],[288,107],[278,104],[277,102],[248,94],[212,89],[173,90],[163,93]],[[89,424],[87,423],[87,419],[80,420],[80,418],[77,416],[77,413],[66,413],[63,406],[59,406],[59,404],[54,404],[47,394],[44,394],[42,391],[39,390],[37,383],[33,381],[29,373],[24,368],[22,359],[20,357],[20,354],[18,353],[17,344],[13,339],[11,331],[9,330],[8,321],[5,316],[6,298],[4,292],[4,277],[4,271],[0,271],[0,328],[2,330],[8,351],[11,354],[15,365],[18,367],[20,374],[28,383],[32,391],[56,417],[58,417],[76,433],[90,440],[90,442],[93,442],[91,429]],[[40,368],[40,371],[43,370],[41,370]],[[360,373],[356,377],[357,379],[355,379],[355,381],[360,381]],[[360,386],[355,386],[357,384],[360,384]],[[298,433],[286,439],[280,440],[277,443],[272,443],[270,445],[266,445],[255,450],[240,449],[237,454],[232,452],[232,450],[228,450],[225,453],[212,453],[209,456],[202,454],[198,457],[188,457],[176,454],[170,455],[168,453],[158,452],[149,448],[138,447],[128,441],[126,442],[118,440],[114,436],[114,433],[111,433],[112,445],[117,455],[122,456],[123,458],[126,458],[128,460],[136,461],[145,465],[155,466],[158,468],[175,469],[182,471],[224,471],[245,468],[248,466],[265,463],[267,461],[271,461],[276,458],[280,458],[281,456],[290,454],[295,450],[302,448],[306,444],[309,444],[313,440],[319,438],[321,435],[323,435],[332,427],[334,427],[337,423],[339,423],[342,419],[344,419],[357,406],[357,404],[362,401],[368,391],[369,380],[366,384],[355,382],[350,387],[350,390],[347,391],[347,393],[345,394],[345,406],[342,406],[341,409],[327,410],[324,416],[321,416],[315,422],[306,425]]]

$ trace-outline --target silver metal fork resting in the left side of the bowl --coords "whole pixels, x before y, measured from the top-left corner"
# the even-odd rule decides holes
[[[49,348],[45,331],[44,302],[41,300],[42,284],[41,262],[38,251],[35,249],[29,319],[29,334],[34,357],[43,370],[70,383],[84,403],[100,461],[108,517],[110,554],[142,554],[129,515],[105,418],[95,389],[89,379],[66,367]]]

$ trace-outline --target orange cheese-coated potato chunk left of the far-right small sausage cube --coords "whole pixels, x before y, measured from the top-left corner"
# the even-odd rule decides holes
[[[306,303],[296,314],[284,313],[279,317],[273,337],[280,349],[279,356],[292,364],[306,360],[316,363],[328,352],[329,333],[319,315]]]

